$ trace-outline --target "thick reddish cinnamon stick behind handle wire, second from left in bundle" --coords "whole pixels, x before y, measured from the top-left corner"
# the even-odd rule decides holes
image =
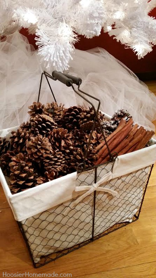
[[[121,131],[119,131],[119,133],[115,135],[115,137],[117,137],[117,138],[115,138],[115,140],[113,140],[112,142],[109,143],[110,151],[114,150],[114,148],[117,147],[120,144],[120,142],[122,142],[127,137],[127,135],[129,134],[129,132],[131,130],[132,130],[132,126],[130,124],[127,124]],[[108,154],[109,154],[109,151],[106,147],[106,149],[101,154],[101,156],[98,157],[98,160],[95,163],[95,165],[100,164],[104,160],[104,158],[107,157]]]

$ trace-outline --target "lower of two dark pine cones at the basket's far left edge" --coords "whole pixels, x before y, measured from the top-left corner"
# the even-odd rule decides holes
[[[12,162],[12,157],[14,157],[14,156],[15,156],[15,152],[8,151],[7,153],[3,154],[3,156],[0,160],[0,167],[5,176],[10,175],[9,163]]]

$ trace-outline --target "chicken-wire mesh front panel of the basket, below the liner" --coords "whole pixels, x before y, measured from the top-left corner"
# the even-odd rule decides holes
[[[112,163],[77,174],[76,185],[91,185],[112,168]],[[139,218],[153,166],[115,178],[105,187],[117,197],[95,191],[65,216],[73,200],[18,222],[35,268],[80,248]]]

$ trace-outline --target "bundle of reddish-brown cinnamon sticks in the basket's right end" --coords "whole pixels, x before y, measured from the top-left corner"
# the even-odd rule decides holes
[[[106,138],[106,141],[111,153],[117,152],[118,155],[122,155],[144,148],[153,135],[154,131],[147,131],[137,124],[133,125],[132,118],[127,122],[121,119],[117,129]],[[95,148],[95,152],[97,153],[95,165],[109,161],[110,156],[105,141]]]

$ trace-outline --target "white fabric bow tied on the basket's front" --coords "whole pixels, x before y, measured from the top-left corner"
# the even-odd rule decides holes
[[[88,190],[87,192],[85,192],[84,194],[82,194],[79,198],[77,198],[75,201],[73,201],[70,204],[70,207],[68,207],[65,212],[63,213],[63,215],[67,215],[70,210],[74,207],[76,207],[76,205],[78,203],[80,203],[85,197],[89,196],[91,193],[93,193],[95,190],[97,191],[103,191],[106,193],[110,193],[113,197],[117,196],[118,193],[112,189],[109,188],[105,188],[105,187],[100,187],[100,185],[103,185],[104,183],[106,183],[107,181],[111,180],[113,178],[112,172],[108,172],[107,174],[105,174],[97,183],[93,183],[92,185],[83,185],[83,186],[76,186],[75,191],[84,191],[84,190]]]

